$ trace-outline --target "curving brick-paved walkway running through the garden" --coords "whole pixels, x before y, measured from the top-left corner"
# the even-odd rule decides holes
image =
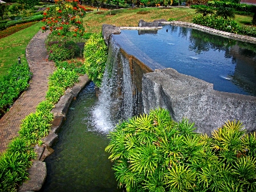
[[[0,152],[18,136],[21,120],[35,113],[36,106],[45,99],[48,76],[55,70],[54,63],[46,61],[45,38],[48,33],[39,31],[29,42],[26,58],[33,76],[29,88],[15,101],[10,111],[0,119]]]

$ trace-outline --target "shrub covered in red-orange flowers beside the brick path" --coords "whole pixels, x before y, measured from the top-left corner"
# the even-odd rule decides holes
[[[86,8],[81,6],[78,0],[55,0],[55,6],[51,6],[44,12],[43,31],[50,30],[53,35],[83,36],[83,17]]]

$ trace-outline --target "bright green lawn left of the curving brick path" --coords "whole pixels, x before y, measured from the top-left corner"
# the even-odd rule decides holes
[[[26,62],[26,47],[39,31],[41,22],[0,39],[0,81],[13,63]]]

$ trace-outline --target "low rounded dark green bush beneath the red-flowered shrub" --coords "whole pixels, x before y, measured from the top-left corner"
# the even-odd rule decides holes
[[[79,56],[80,48],[75,42],[49,42],[47,44],[48,59],[63,61]]]

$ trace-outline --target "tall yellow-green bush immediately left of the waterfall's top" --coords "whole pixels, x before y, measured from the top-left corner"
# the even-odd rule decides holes
[[[84,65],[86,74],[100,86],[108,57],[108,47],[101,34],[93,34],[84,45]]]

